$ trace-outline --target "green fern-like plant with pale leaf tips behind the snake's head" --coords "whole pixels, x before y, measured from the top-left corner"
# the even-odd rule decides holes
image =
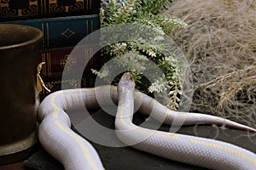
[[[151,95],[161,95],[163,105],[172,110],[177,110],[182,94],[179,79],[178,59],[170,51],[169,44],[165,42],[165,36],[169,35],[177,26],[187,26],[183,21],[169,14],[161,14],[163,8],[167,8],[167,0],[128,0],[125,5],[119,6],[115,0],[108,4],[108,10],[101,8],[101,26],[108,27],[130,23],[132,26],[144,29],[131,37],[130,41],[110,43],[102,48],[102,70],[92,70],[98,77],[108,80],[114,67],[131,66],[131,74],[136,82],[136,88]],[[150,29],[150,31],[147,31]],[[122,30],[120,30],[122,31]],[[152,31],[154,34],[152,35]],[[108,32],[102,33],[105,39]],[[148,35],[147,35],[148,34]],[[147,38],[145,38],[147,37]],[[148,38],[150,37],[150,38]],[[166,56],[165,54],[170,54]],[[125,55],[120,62],[116,59],[119,55]],[[115,65],[104,65],[109,59],[113,59]],[[116,60],[115,60],[116,59]],[[164,73],[163,77],[155,77],[154,82],[149,82],[143,76],[147,69],[143,62],[151,59]],[[129,69],[129,68],[128,68]],[[117,84],[120,77],[116,77],[112,84]],[[168,94],[166,94],[168,93]]]

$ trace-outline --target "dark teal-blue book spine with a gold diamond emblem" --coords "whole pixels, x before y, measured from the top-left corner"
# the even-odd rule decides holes
[[[91,32],[100,29],[98,14],[48,19],[15,20],[5,23],[33,26],[43,31],[42,48],[75,46]]]

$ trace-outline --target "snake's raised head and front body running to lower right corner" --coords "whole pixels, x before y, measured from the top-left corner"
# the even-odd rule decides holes
[[[134,83],[129,75],[119,82],[119,107],[115,120],[117,135],[125,144],[167,159],[211,169],[255,169],[256,155],[234,144],[189,135],[152,131],[132,120]],[[148,135],[150,134],[150,135]],[[139,139],[143,140],[140,142]]]

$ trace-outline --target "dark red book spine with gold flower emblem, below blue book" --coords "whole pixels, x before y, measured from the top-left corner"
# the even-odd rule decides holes
[[[41,76],[61,77],[64,67],[66,67],[67,73],[73,73],[78,69],[85,69],[85,71],[96,69],[96,65],[99,65],[100,62],[100,53],[96,51],[96,46],[98,45],[76,47],[72,54],[73,47],[40,50],[38,63],[45,62],[40,73]],[[84,68],[84,63],[90,57],[91,59]]]

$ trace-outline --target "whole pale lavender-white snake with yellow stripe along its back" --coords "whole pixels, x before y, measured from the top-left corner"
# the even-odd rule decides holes
[[[121,141],[138,150],[162,156],[174,161],[194,164],[210,169],[256,169],[256,155],[234,144],[214,139],[204,139],[178,133],[155,131],[137,127],[131,122],[135,108],[145,115],[151,113],[156,120],[172,124],[173,119],[183,120],[183,124],[199,122],[225,125],[256,132],[255,129],[236,122],[199,113],[170,111],[146,94],[134,91],[134,82],[129,74],[124,74],[118,87],[101,86],[60,90],[49,94],[39,105],[38,138],[44,149],[60,161],[67,170],[104,169],[96,150],[79,134],[74,133],[67,116],[68,109],[78,107],[99,107],[96,93],[101,98],[109,95],[118,104],[115,120],[116,134]],[[98,97],[98,96],[97,96]],[[135,98],[134,98],[135,97]],[[106,99],[105,99],[106,100]],[[108,100],[105,101],[108,104]]]

